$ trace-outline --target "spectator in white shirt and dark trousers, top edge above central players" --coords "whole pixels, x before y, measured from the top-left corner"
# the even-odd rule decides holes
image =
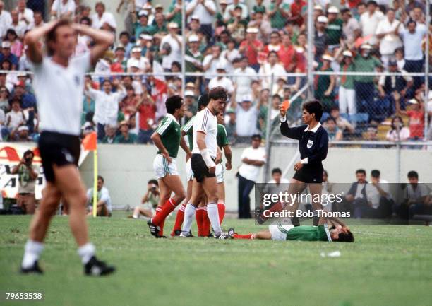
[[[215,21],[216,5],[212,0],[192,0],[186,5],[186,17],[196,15],[200,18],[201,30],[207,40],[213,35],[212,23]]]

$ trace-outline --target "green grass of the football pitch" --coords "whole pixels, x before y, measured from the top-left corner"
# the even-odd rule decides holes
[[[68,218],[49,229],[44,276],[18,266],[28,216],[0,217],[0,305],[426,306],[432,301],[432,228],[356,226],[352,244],[258,240],[158,239],[145,222],[89,218],[103,260],[118,272],[83,276]],[[167,221],[167,232],[173,218]],[[238,233],[262,227],[224,220]],[[340,257],[321,257],[339,250]],[[5,292],[42,292],[42,302],[5,302]]]

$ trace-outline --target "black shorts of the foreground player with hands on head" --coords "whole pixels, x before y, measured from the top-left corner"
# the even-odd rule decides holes
[[[78,136],[42,131],[39,138],[39,151],[44,175],[48,182],[54,182],[52,165],[76,165],[80,159],[80,139]]]

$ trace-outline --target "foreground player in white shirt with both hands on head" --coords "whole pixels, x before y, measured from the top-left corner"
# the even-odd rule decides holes
[[[92,37],[95,46],[90,53],[73,57],[77,33]],[[40,47],[39,42],[44,37],[49,56],[42,54]],[[49,223],[62,197],[67,199],[70,207],[69,223],[85,274],[101,276],[114,272],[113,266],[95,257],[95,247],[88,241],[85,220],[87,195],[78,172],[84,74],[113,42],[111,33],[68,20],[54,20],[25,36],[27,56],[35,73],[33,86],[42,130],[38,146],[47,186],[39,210],[30,224],[30,237],[21,264],[22,273],[43,273],[38,259],[44,248]]]

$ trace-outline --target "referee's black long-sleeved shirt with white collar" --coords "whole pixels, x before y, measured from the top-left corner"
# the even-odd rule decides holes
[[[282,121],[284,120],[284,121]],[[282,135],[299,141],[300,158],[304,160],[304,167],[323,169],[323,160],[327,158],[328,134],[318,125],[308,130],[308,125],[289,127],[285,118],[280,121],[280,132]]]

